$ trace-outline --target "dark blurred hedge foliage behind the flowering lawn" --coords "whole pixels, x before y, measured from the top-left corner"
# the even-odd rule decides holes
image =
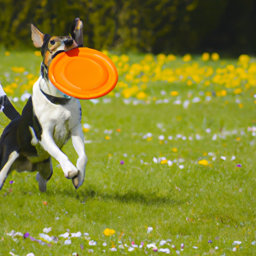
[[[32,46],[31,22],[44,33],[63,35],[80,17],[84,45],[91,48],[254,52],[253,0],[0,0],[0,6],[0,42],[7,48]]]

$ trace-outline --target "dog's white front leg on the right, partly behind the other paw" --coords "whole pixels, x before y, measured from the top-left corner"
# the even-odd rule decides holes
[[[77,177],[73,178],[73,185],[77,189],[84,180],[85,175],[85,167],[87,163],[87,155],[85,154],[84,149],[84,137],[82,133],[81,124],[77,124],[71,131],[71,139],[74,146],[75,151],[78,154],[78,159],[76,161],[76,168],[78,169]]]

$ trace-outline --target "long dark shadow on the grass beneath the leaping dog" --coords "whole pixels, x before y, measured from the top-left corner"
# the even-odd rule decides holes
[[[159,196],[157,192],[142,193],[137,190],[128,190],[124,193],[121,191],[101,191],[93,189],[92,187],[87,187],[83,190],[68,190],[64,189],[58,191],[57,193],[62,194],[62,196],[73,197],[80,200],[81,203],[86,202],[88,199],[97,199],[99,201],[119,201],[125,203],[142,203],[142,204],[182,204],[180,200],[174,200],[169,196]]]

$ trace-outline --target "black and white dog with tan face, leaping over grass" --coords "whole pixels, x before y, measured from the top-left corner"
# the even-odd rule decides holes
[[[41,47],[41,75],[33,85],[32,96],[21,115],[10,103],[0,85],[0,109],[11,120],[0,137],[0,189],[12,171],[35,171],[38,187],[46,191],[52,175],[51,157],[60,164],[66,178],[75,188],[84,180],[87,156],[81,127],[81,106],[78,99],[59,91],[48,78],[48,66],[59,53],[82,47],[82,21],[75,18],[71,36],[50,36],[31,24],[32,41]],[[78,154],[74,166],[60,148],[70,139]]]

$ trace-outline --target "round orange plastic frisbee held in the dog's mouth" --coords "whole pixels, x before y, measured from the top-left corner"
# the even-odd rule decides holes
[[[104,96],[118,80],[112,60],[87,47],[57,54],[49,65],[48,76],[57,89],[80,99]]]

